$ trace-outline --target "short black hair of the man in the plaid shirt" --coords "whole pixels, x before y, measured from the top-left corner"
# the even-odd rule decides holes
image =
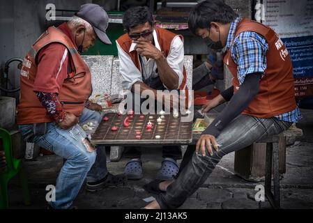
[[[234,10],[220,0],[206,0],[198,3],[190,11],[188,26],[197,35],[197,29],[210,28],[211,22],[227,24],[236,19]]]

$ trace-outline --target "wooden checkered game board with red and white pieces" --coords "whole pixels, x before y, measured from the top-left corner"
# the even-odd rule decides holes
[[[128,115],[118,116],[116,113],[105,114],[108,121],[102,120],[95,133],[91,137],[93,144],[102,145],[137,145],[137,144],[190,144],[192,142],[192,121],[182,122],[181,114],[174,118],[171,114],[165,114],[162,123],[158,124],[159,114],[141,115],[135,114],[132,118]],[[123,126],[123,122],[129,117],[130,125]],[[153,127],[146,129],[147,123],[151,121]],[[116,126],[117,130],[112,131]],[[136,136],[140,132],[140,139]],[[156,139],[155,136],[160,136]]]

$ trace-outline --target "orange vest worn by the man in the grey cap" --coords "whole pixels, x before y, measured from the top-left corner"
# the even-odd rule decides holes
[[[38,66],[36,56],[40,49],[50,43],[60,43],[70,53],[69,58],[73,71],[64,80],[59,92],[59,101],[64,111],[71,112],[77,117],[81,116],[92,93],[91,72],[77,52],[74,43],[60,29],[51,26],[36,40],[24,58],[20,76],[20,104],[17,106],[17,124],[19,125],[54,121],[33,91]]]

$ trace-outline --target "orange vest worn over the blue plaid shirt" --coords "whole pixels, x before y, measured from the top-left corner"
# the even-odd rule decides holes
[[[266,53],[267,66],[264,77],[260,81],[259,93],[242,114],[270,118],[296,109],[293,68],[284,43],[273,29],[259,22],[243,19],[238,24],[235,38],[245,31],[253,31],[266,38],[268,52]],[[236,93],[240,87],[237,75],[238,66],[231,59],[230,50],[224,54],[224,63],[234,76],[232,84]]]

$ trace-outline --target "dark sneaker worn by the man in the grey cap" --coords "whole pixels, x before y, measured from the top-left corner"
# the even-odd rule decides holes
[[[124,174],[113,175],[107,174],[105,178],[98,180],[96,182],[87,182],[86,190],[89,192],[97,192],[99,190],[105,189],[106,187],[118,187],[124,185],[127,182],[127,178]]]

